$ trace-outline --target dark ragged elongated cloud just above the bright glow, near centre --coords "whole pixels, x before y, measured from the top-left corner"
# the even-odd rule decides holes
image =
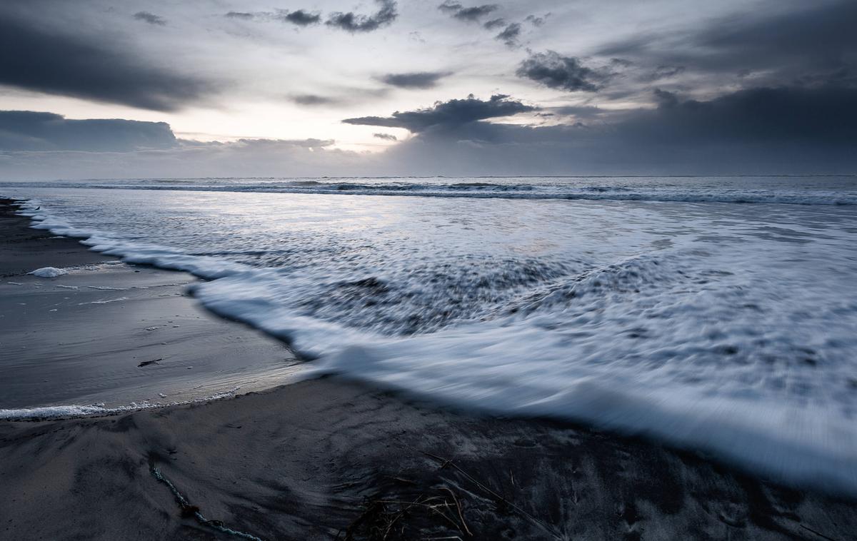
[[[508,99],[508,96],[502,94],[491,96],[488,101],[476,99],[470,94],[465,99],[451,99],[447,102],[439,102],[434,104],[434,107],[428,109],[404,112],[396,111],[391,116],[346,118],[342,122],[364,126],[405,128],[411,132],[419,133],[428,128],[456,128],[470,122],[500,116],[512,116],[533,110],[536,110],[536,108]]]

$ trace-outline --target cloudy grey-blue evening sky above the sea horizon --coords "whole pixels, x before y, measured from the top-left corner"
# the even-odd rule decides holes
[[[0,179],[857,173],[853,0],[4,0]]]

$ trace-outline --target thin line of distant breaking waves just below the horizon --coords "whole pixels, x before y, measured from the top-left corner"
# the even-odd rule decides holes
[[[369,179],[368,179],[369,180]],[[857,191],[832,189],[752,189],[697,187],[680,183],[665,186],[576,185],[562,182],[501,183],[488,181],[320,181],[267,182],[212,181],[210,179],[81,182],[6,182],[8,187],[182,190],[236,193],[305,193],[339,195],[396,195],[411,197],[481,199],[578,199],[599,201],[652,201],[684,203],[744,203],[778,205],[857,205]]]

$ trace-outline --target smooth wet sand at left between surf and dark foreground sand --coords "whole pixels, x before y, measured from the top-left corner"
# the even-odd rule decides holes
[[[0,417],[195,401],[299,370],[282,342],[190,300],[195,276],[124,264],[30,223],[0,206]],[[44,267],[64,274],[27,274]],[[27,411],[39,407],[52,409]]]

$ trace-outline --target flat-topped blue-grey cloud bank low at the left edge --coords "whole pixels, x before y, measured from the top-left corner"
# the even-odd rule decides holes
[[[131,152],[176,144],[166,122],[68,120],[53,113],[0,111],[0,151]]]

